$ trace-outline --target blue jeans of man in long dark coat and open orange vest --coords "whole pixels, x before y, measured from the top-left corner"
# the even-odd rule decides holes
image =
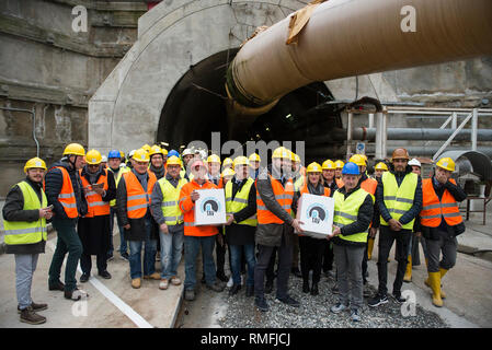
[[[146,241],[144,252],[144,276],[156,272],[157,240],[150,240],[150,219],[146,220]],[[144,241],[129,242],[129,271],[131,279],[141,278],[141,248]]]

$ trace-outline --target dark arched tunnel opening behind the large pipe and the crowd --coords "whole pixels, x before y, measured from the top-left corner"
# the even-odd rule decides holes
[[[165,101],[157,141],[168,142],[169,149],[179,150],[194,140],[205,142],[210,149],[211,132],[220,132],[221,142],[230,139],[225,82],[227,68],[238,50],[215,54],[190,67]],[[283,96],[268,113],[256,117],[234,135],[234,139],[241,143],[250,140],[294,142],[340,130],[341,108],[333,101],[323,82],[299,88]],[[333,142],[340,143],[340,139]],[[336,154],[324,156],[335,158]],[[322,161],[306,145],[306,163],[314,160]]]

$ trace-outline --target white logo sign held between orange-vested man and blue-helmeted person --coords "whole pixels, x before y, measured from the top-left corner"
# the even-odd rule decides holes
[[[297,210],[297,219],[304,222],[301,234],[314,238],[332,235],[335,201],[331,197],[304,194]]]

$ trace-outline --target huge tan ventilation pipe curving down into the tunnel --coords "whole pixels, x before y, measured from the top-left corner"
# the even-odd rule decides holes
[[[231,62],[227,91],[239,115],[265,113],[313,81],[492,54],[491,0],[330,0],[316,7],[298,43],[286,45],[291,15]]]

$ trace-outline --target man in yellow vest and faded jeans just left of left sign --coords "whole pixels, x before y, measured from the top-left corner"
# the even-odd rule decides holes
[[[181,161],[172,155],[168,159],[168,172],[153,186],[151,209],[159,225],[161,252],[161,281],[159,289],[167,290],[169,283],[181,284],[178,266],[181,261],[184,242],[183,213],[179,207],[181,188],[187,179],[180,176]]]

